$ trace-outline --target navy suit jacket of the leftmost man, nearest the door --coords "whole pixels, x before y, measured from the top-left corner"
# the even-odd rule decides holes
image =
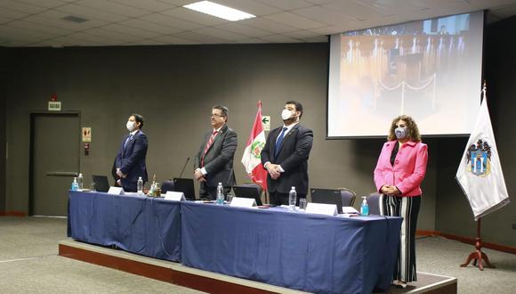
[[[141,131],[136,132],[133,135],[133,139],[129,140],[124,148],[127,137],[129,135],[125,135],[124,139],[122,139],[117,159],[115,159],[115,166],[127,175],[127,177],[122,179],[122,184],[136,183],[139,176],[141,176],[143,182],[147,182],[149,179],[147,176],[147,166],[145,165],[147,148],[149,146],[147,135]]]

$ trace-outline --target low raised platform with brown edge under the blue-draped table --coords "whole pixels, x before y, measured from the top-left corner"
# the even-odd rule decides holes
[[[209,293],[305,293],[71,239],[60,241],[59,255]],[[387,293],[457,293],[456,278],[427,273],[417,276],[419,281],[407,289],[391,287]]]

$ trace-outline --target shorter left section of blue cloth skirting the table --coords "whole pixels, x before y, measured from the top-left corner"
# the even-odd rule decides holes
[[[69,192],[69,236],[171,261],[181,260],[180,202]]]

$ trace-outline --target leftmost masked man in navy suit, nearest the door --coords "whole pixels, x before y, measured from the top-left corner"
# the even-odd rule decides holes
[[[124,187],[125,192],[137,192],[138,177],[141,176],[143,183],[148,180],[145,158],[149,143],[147,135],[141,132],[143,127],[141,115],[133,113],[127,120],[126,127],[129,135],[125,135],[122,139],[115,159],[117,184]]]

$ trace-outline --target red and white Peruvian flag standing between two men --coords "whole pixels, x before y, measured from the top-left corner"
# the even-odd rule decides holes
[[[242,163],[246,167],[247,176],[254,183],[262,186],[267,191],[267,171],[262,167],[262,149],[265,146],[265,133],[262,123],[262,102],[258,102],[258,112],[254,118],[253,130],[247,140],[246,150],[242,156]]]

